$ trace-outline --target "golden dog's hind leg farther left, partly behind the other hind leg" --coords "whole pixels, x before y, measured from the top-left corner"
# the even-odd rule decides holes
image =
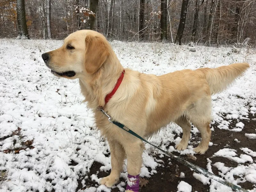
[[[178,145],[175,146],[177,150],[184,150],[188,147],[188,141],[190,138],[191,124],[189,123],[186,116],[181,116],[175,121],[177,125],[182,128],[183,136]]]

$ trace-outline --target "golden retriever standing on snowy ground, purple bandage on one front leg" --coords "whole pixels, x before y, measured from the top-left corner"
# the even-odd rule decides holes
[[[138,189],[131,186],[139,180],[136,178],[140,174],[144,144],[110,123],[97,108],[102,107],[112,121],[124,124],[141,137],[152,136],[175,122],[183,131],[180,143],[175,146],[177,150],[187,148],[192,123],[202,136],[194,151],[204,154],[211,138],[211,95],[225,90],[249,68],[248,63],[235,63],[218,68],[184,69],[161,76],[124,70],[107,39],[92,30],[70,34],[60,48],[42,54],[42,58],[55,76],[79,79],[87,107],[92,109],[96,126],[109,143],[112,170],[100,184],[107,187],[116,184],[126,156],[127,186],[130,186],[126,192]],[[121,76],[121,84],[106,102],[106,96]]]

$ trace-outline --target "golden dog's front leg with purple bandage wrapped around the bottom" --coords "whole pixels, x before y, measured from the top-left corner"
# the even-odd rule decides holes
[[[139,174],[142,165],[142,153],[144,144],[142,141],[130,142],[125,145],[127,155],[127,186],[125,192],[139,192]]]

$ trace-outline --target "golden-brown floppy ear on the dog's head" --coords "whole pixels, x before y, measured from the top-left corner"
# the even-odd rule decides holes
[[[85,69],[87,73],[93,74],[106,61],[109,55],[108,45],[101,37],[89,35],[85,38],[85,46]]]

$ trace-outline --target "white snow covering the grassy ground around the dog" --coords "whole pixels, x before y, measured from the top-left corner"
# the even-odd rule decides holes
[[[99,185],[86,187],[86,180],[96,184],[100,180],[97,174],[90,174],[94,162],[103,164],[100,171],[110,170],[111,164],[108,143],[95,130],[91,111],[81,103],[84,98],[78,80],[54,77],[41,58],[43,52],[61,44],[62,41],[57,40],[0,39],[0,191],[73,192],[78,180],[82,180],[84,188],[79,191],[111,191]],[[212,118],[219,129],[240,132],[244,128],[240,120],[256,113],[255,49],[243,48],[240,53],[233,53],[232,48],[198,46],[196,52],[189,52],[187,46],[174,44],[113,41],[111,45],[124,67],[156,75],[185,68],[248,62],[251,68],[244,76],[227,91],[212,97]],[[237,119],[236,128],[230,128],[228,119],[231,118]],[[198,130],[193,128],[192,132]],[[255,140],[255,133],[256,130],[250,132],[244,139]],[[150,141],[165,150],[171,145],[167,149],[174,152],[173,146],[181,136],[181,128],[171,124]],[[209,150],[214,146],[210,143]],[[238,156],[232,148],[219,150],[212,159],[223,157],[224,161],[211,164],[211,159],[207,159],[207,169],[217,167],[221,177],[237,185],[249,181],[250,191],[256,192],[256,151],[244,146],[240,152]],[[194,155],[192,144],[179,153],[183,157]],[[146,144],[140,177],[156,173],[162,156]],[[227,167],[228,161],[238,165]],[[127,178],[125,169],[124,166],[121,174],[124,179]],[[183,174],[181,178],[187,176]],[[200,174],[193,176],[210,185],[210,192],[232,191]],[[190,192],[191,185],[193,183],[181,181],[172,191]],[[124,182],[117,187],[124,191]]]

